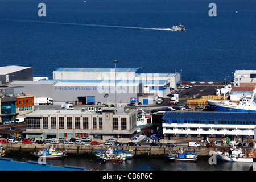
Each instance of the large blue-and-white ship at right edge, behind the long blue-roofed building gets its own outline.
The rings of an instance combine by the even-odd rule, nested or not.
[[[238,102],[225,101],[213,101],[207,100],[207,103],[213,111],[217,112],[245,112],[256,113],[256,104],[254,102],[256,89],[254,89],[252,96],[242,96]]]

